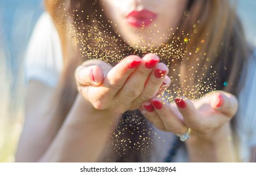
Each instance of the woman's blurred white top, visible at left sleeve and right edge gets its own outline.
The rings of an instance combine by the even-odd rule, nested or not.
[[[256,146],[256,51],[255,57],[248,64],[247,79],[238,97],[239,108],[237,113],[238,134],[240,137],[240,158],[247,162],[250,159],[250,148]],[[61,42],[58,32],[48,13],[40,18],[28,46],[26,54],[26,81],[36,79],[50,87],[55,87],[63,69]],[[161,162],[168,154],[172,133],[165,133],[156,129],[155,146],[152,162]],[[177,162],[186,162],[188,158],[183,149],[179,149]]]

